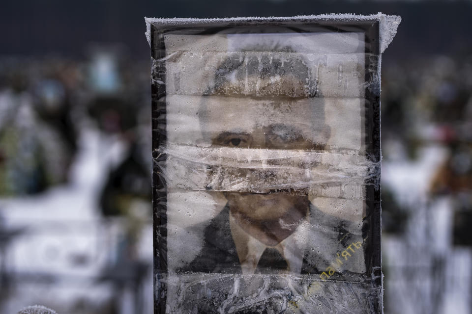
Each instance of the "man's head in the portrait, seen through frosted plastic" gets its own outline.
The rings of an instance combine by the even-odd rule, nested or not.
[[[324,104],[314,97],[311,71],[300,56],[254,52],[245,58],[229,59],[216,71],[218,84],[215,95],[205,97],[207,121],[202,131],[216,147],[260,150],[260,166],[232,169],[230,180],[254,182],[264,192],[226,191],[224,196],[236,220],[254,227],[252,232],[263,231],[269,235],[266,244],[275,245],[306,217],[309,201],[306,192],[295,192],[293,182],[270,188],[274,176],[279,181],[285,176],[277,160],[267,156],[268,150],[302,154],[324,149],[329,127],[324,125]],[[291,171],[290,166],[285,169]]]

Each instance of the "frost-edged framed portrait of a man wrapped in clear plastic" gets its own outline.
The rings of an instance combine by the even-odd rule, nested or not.
[[[147,19],[155,314],[383,311],[396,16]]]

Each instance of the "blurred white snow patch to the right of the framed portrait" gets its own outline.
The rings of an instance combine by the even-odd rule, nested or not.
[[[471,250],[452,245],[451,197],[428,195],[446,158],[446,148],[430,145],[415,161],[397,158],[382,164],[383,185],[411,215],[405,235],[383,236],[385,313],[470,313]]]

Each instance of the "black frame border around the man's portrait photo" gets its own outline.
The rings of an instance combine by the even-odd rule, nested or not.
[[[381,161],[380,143],[380,35],[379,20],[356,19],[355,17],[340,20],[332,19],[248,19],[237,21],[211,20],[191,24],[166,23],[150,24],[151,60],[165,57],[164,34],[180,33],[189,35],[203,34],[234,34],[234,33],[301,33],[301,32],[364,32],[365,38],[365,150],[366,157],[373,162]],[[159,145],[167,142],[165,125],[166,87],[155,81],[166,80],[165,68],[154,68],[151,62],[151,105],[152,105],[152,208],[153,208],[153,247],[154,247],[154,314],[165,314],[167,301],[167,187],[165,178],[157,165],[166,160],[166,156],[158,154]],[[161,128],[160,128],[161,127]],[[367,132],[372,130],[372,132]],[[379,166],[380,171],[380,166]],[[381,271],[381,188],[379,175],[365,181],[366,186],[366,217],[363,221],[363,237],[367,239],[365,256],[366,280],[372,280],[374,288],[382,289]],[[376,300],[375,308],[382,309],[383,300]]]

